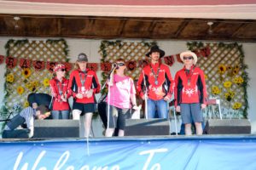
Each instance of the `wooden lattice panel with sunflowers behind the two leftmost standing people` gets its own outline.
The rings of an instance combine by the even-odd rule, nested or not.
[[[46,69],[46,62],[66,62],[67,56],[65,54],[65,44],[64,41],[58,42],[45,42],[45,41],[29,41],[26,43],[20,43],[15,45],[15,42],[9,43],[9,56],[18,59],[15,68],[7,68],[7,74],[13,74],[15,77],[14,82],[7,82],[7,91],[9,95],[6,98],[6,104],[8,107],[20,103],[20,105],[25,104],[27,95],[34,93],[46,93],[50,94],[49,87],[44,87],[44,79],[51,79],[53,74]],[[31,76],[25,78],[22,75],[22,68],[20,67],[20,59],[31,59],[44,61],[44,70],[36,71],[32,64],[29,68],[31,70]],[[28,85],[38,85],[37,88],[28,88]],[[24,88],[23,94],[18,94],[18,87]]]

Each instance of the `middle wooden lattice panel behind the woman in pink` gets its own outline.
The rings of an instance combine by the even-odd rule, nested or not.
[[[105,58],[106,62],[113,63],[116,59],[125,59],[127,61],[139,61],[146,60],[145,56],[148,53],[150,47],[143,42],[120,42],[117,45],[108,45],[106,48],[108,56]],[[137,79],[140,75],[142,68],[137,63],[137,68],[133,71],[126,71],[125,74],[133,79]]]

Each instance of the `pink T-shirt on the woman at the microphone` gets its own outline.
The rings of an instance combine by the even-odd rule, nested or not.
[[[110,87],[109,105],[120,109],[131,108],[131,94],[136,94],[134,82],[131,77],[119,77],[117,74],[113,75],[113,86]]]

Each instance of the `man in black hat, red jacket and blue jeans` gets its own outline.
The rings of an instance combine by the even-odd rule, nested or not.
[[[151,59],[137,81],[137,91],[142,99],[147,99],[148,118],[167,118],[167,102],[172,98],[174,82],[170,69],[160,62],[165,52],[158,46],[150,48],[147,57]],[[147,91],[147,92],[146,92]],[[158,113],[158,116],[156,116]]]

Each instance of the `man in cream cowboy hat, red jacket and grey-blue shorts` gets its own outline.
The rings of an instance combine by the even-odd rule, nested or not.
[[[175,75],[175,105],[176,111],[181,113],[185,134],[191,135],[191,123],[195,122],[196,134],[202,134],[201,109],[206,108],[207,86],[204,72],[196,67],[197,56],[191,51],[180,54],[183,69]]]

